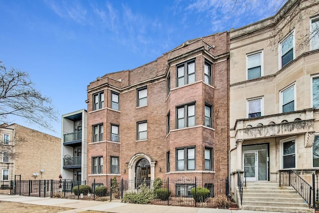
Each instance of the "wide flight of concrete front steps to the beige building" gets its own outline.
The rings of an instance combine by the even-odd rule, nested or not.
[[[249,182],[243,189],[242,210],[314,213],[292,187],[279,187],[279,183]]]

